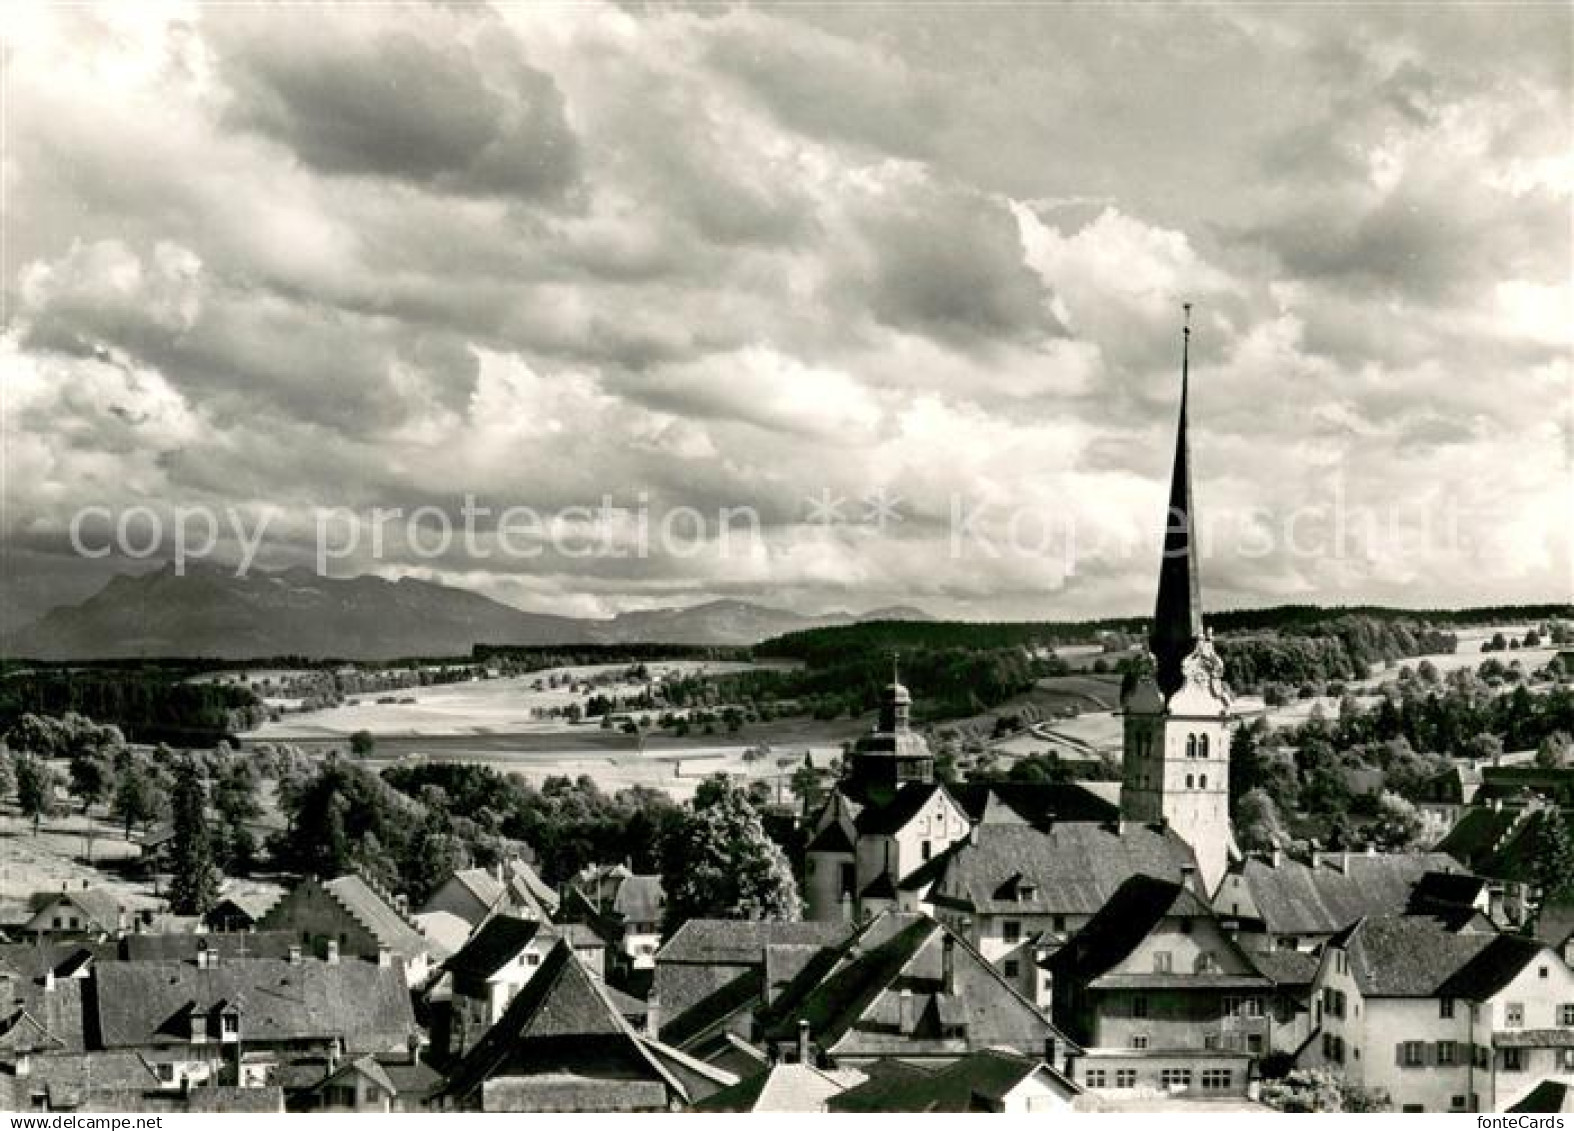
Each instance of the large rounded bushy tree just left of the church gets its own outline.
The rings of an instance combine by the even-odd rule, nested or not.
[[[663,845],[664,930],[689,919],[800,915],[787,856],[765,834],[748,793],[724,774],[700,783]]]

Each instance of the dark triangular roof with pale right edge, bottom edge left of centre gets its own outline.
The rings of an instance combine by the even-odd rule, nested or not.
[[[548,952],[497,1022],[453,1068],[444,1093],[474,1100],[504,1078],[644,1079],[686,1096],[567,942]]]

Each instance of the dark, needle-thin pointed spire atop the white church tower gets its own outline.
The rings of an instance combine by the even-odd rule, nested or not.
[[[1180,661],[1203,635],[1203,588],[1192,538],[1192,451],[1187,444],[1185,409],[1192,365],[1192,304],[1185,304],[1180,332],[1180,423],[1176,428],[1176,461],[1169,473],[1169,511],[1165,525],[1165,555],[1158,566],[1158,602],[1149,648],[1157,662],[1155,678],[1165,695],[1182,683]]]

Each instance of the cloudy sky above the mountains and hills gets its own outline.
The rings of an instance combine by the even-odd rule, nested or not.
[[[175,508],[264,524],[271,568],[351,508],[334,573],[551,612],[1141,612],[1182,300],[1209,606],[1574,590],[1568,5],[39,5],[3,36],[6,620],[165,558]],[[428,535],[466,496],[710,536],[502,552],[482,516],[373,552],[371,508]],[[82,558],[77,514],[151,554]]]

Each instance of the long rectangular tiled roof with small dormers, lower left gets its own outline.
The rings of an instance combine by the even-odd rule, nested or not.
[[[194,963],[99,963],[98,1029],[107,1048],[183,1044],[192,1015],[241,1005],[250,1041],[343,1037],[351,1051],[401,1046],[416,1027],[398,963],[299,964],[249,958],[201,969]]]

